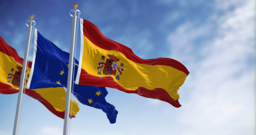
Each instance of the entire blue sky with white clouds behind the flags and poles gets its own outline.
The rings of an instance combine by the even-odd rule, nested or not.
[[[25,22],[34,14],[38,31],[69,51],[74,3],[106,37],[143,59],[176,59],[190,74],[178,91],[179,108],[107,88],[117,122],[109,124],[104,112],[79,104],[72,135],[254,135],[253,0],[2,0],[0,36],[23,57]],[[17,98],[0,94],[1,135],[12,134]],[[20,120],[20,135],[62,134],[64,120],[27,95]]]

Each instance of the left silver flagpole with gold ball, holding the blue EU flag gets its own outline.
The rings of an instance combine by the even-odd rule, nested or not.
[[[28,26],[28,36],[27,36],[27,41],[26,41],[26,48],[25,48],[25,53],[24,53],[22,72],[21,72],[21,76],[20,76],[20,90],[19,90],[18,103],[17,103],[16,115],[15,115],[15,121],[14,121],[14,127],[13,127],[13,135],[17,135],[17,132],[18,132],[18,123],[19,123],[19,117],[20,117],[20,105],[21,105],[24,82],[25,82],[25,77],[26,77],[28,50],[29,50],[29,45],[30,45],[30,41],[31,41],[31,32],[32,32],[32,27],[34,27],[36,25],[36,22],[34,20],[32,20],[34,18],[34,15],[30,15],[30,18],[31,18],[30,20],[26,21],[26,25]],[[29,25],[28,25],[28,23],[29,23]]]

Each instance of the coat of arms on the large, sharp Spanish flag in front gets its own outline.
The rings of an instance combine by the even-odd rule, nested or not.
[[[98,67],[98,74],[102,75],[101,69],[104,65],[104,68],[102,71],[103,74],[115,76],[116,71],[118,71],[118,74],[115,76],[115,78],[120,80],[120,75],[122,74],[121,71],[123,71],[124,64],[120,64],[120,67],[118,68],[117,62],[120,60],[120,58],[118,56],[116,56],[114,53],[107,54],[107,56],[109,57],[109,59],[107,59],[105,63],[104,63],[105,56],[101,56],[101,61],[99,62],[100,66]]]

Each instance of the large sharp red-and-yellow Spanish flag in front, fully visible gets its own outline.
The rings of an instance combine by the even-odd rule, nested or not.
[[[180,107],[177,91],[189,71],[169,58],[141,59],[81,19],[81,52],[76,84],[111,87]]]

